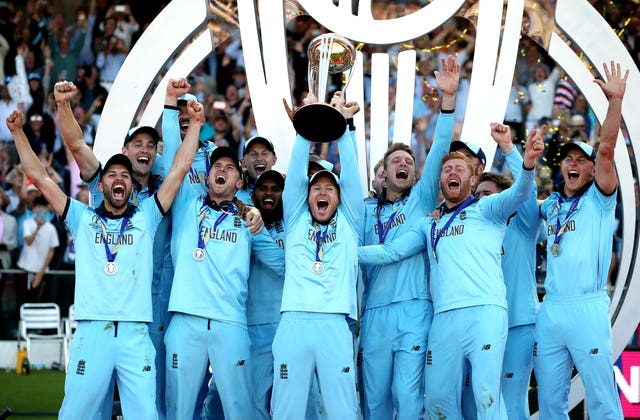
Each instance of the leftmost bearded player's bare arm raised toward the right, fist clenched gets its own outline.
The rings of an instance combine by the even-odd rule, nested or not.
[[[187,109],[189,112],[189,129],[157,194],[158,201],[165,213],[171,207],[173,199],[180,188],[180,183],[193,164],[200,141],[200,127],[204,124],[204,107],[202,104],[190,100],[187,104]]]

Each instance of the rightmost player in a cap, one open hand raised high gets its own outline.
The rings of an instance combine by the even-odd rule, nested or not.
[[[568,418],[571,371],[584,383],[589,417],[621,419],[613,376],[607,275],[615,232],[614,151],[629,71],[611,61],[595,83],[609,100],[598,151],[560,149],[562,184],[540,206],[547,221],[546,298],[536,319],[534,370],[540,418]]]

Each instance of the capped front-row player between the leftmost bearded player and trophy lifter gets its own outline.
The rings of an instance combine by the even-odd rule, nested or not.
[[[174,207],[175,275],[165,336],[167,418],[196,410],[208,362],[226,418],[252,418],[247,280],[250,257],[284,275],[283,250],[266,231],[253,235],[238,213],[235,195],[242,169],[235,150],[211,154],[208,193],[185,179]]]

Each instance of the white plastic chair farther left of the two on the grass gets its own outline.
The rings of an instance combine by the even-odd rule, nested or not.
[[[59,343],[63,361],[68,358],[66,335],[62,330],[60,308],[55,303],[24,303],[20,306],[20,336],[27,343],[27,353],[32,357],[31,343]],[[60,360],[59,360],[60,361]]]

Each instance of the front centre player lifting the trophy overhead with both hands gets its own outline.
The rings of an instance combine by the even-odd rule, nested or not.
[[[317,101],[310,94],[305,103]],[[331,105],[353,127],[359,110],[342,92]],[[353,336],[356,320],[357,246],[363,218],[362,188],[349,130],[337,140],[340,178],[329,171],[307,178],[310,142],[298,136],[285,185],[286,275],[282,319],[273,342],[274,419],[302,419],[314,370],[327,416],[355,419]]]

